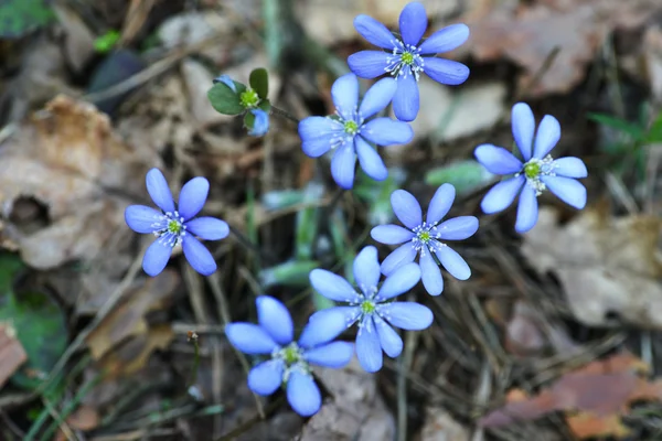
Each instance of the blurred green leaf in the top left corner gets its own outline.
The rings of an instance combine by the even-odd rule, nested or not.
[[[54,19],[45,0],[0,0],[0,39],[18,39]]]

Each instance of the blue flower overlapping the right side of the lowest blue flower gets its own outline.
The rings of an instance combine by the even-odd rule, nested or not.
[[[366,372],[374,373],[382,368],[382,351],[389,357],[397,357],[403,351],[403,341],[391,326],[425,330],[433,323],[433,311],[415,302],[389,302],[418,283],[417,265],[403,266],[380,287],[377,249],[369,246],[354,259],[353,270],[359,290],[331,271],[314,269],[310,272],[310,283],[320,294],[350,304],[316,312],[310,323],[328,320],[328,315],[339,312],[344,315],[348,327],[359,322],[356,356]]]

